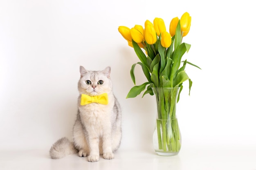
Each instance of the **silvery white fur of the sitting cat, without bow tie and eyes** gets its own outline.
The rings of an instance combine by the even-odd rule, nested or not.
[[[81,77],[78,82],[78,113],[73,127],[73,141],[66,137],[56,141],[50,149],[52,159],[79,152],[79,157],[88,156],[88,161],[99,161],[99,154],[104,159],[113,159],[113,152],[121,142],[121,108],[112,93],[110,67],[103,71],[87,71],[80,66]],[[91,84],[86,84],[89,80]],[[99,85],[99,80],[103,81]],[[91,103],[81,106],[81,94],[90,96],[108,93],[108,104]]]

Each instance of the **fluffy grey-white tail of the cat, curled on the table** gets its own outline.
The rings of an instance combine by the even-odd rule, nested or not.
[[[77,153],[78,151],[66,137],[58,139],[50,149],[50,156],[52,159],[60,159],[67,155]]]

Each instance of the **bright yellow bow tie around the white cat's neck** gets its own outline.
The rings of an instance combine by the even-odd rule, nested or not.
[[[85,94],[81,95],[81,106],[90,104],[90,103],[99,103],[99,104],[108,104],[108,94],[103,93],[99,96],[88,96]]]

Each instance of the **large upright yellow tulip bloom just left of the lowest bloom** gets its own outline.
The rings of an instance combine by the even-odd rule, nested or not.
[[[145,22],[144,38],[148,44],[155,44],[157,42],[155,28],[148,20]]]

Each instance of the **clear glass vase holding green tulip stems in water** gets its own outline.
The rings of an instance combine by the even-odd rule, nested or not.
[[[152,88],[157,102],[153,145],[157,155],[174,156],[180,152],[181,134],[176,115],[180,87]]]

